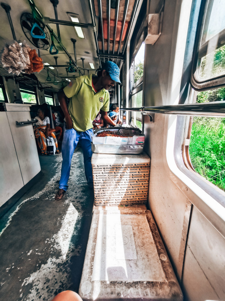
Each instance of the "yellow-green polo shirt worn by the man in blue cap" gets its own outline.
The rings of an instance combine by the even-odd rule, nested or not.
[[[110,94],[104,88],[95,93],[92,87],[92,74],[77,77],[63,91],[71,98],[68,111],[73,127],[78,132],[91,129],[92,122],[100,110],[109,111]]]

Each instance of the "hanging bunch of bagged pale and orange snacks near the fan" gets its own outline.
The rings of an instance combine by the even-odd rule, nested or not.
[[[31,49],[26,41],[19,45],[16,41],[7,44],[1,54],[2,67],[8,73],[34,73],[44,68],[41,57],[38,57],[35,49]]]

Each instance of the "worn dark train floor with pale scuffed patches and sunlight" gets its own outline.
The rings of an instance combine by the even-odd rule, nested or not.
[[[68,191],[54,199],[61,155],[39,156],[41,179],[1,218],[0,300],[50,301],[78,292],[94,194],[88,189],[81,148],[72,158]]]

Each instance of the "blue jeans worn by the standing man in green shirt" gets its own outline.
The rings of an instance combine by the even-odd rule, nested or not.
[[[64,129],[62,141],[62,167],[59,188],[65,191],[68,189],[67,182],[70,176],[71,160],[78,141],[80,141],[83,151],[85,176],[88,185],[93,184],[91,168],[91,136],[93,136],[92,129],[89,129],[85,132],[78,132],[75,129]]]

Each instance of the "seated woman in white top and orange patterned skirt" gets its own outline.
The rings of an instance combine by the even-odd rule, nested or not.
[[[52,138],[55,142],[55,147],[56,147],[55,154],[60,154],[60,152],[58,151],[57,139],[55,137],[55,134],[52,133],[52,129],[50,129],[49,117],[44,116],[44,110],[38,109],[38,116],[36,116],[35,119],[38,120],[38,122],[36,122],[35,126],[34,126],[35,138],[38,141],[38,146],[41,149],[42,156],[45,156],[47,154],[46,137],[49,137],[49,136],[52,136]]]

